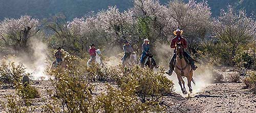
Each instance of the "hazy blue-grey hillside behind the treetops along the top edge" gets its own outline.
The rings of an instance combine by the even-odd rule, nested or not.
[[[188,0],[184,0],[188,2]],[[198,0],[198,2],[203,0]],[[161,4],[167,4],[168,0],[160,0]],[[221,9],[227,5],[235,6],[237,9],[245,9],[248,14],[255,14],[256,1],[254,0],[208,0],[212,16],[218,16]],[[91,11],[95,13],[108,9],[108,6],[117,6],[120,11],[133,7],[132,0],[0,0],[0,20],[4,18],[18,18],[20,15],[32,15],[35,18],[47,18],[57,13],[65,14],[68,19],[82,17]]]

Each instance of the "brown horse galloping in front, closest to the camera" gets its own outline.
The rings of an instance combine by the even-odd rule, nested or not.
[[[185,89],[185,82],[182,77],[187,78],[187,86],[189,88],[189,92],[192,93],[192,87],[191,87],[191,81],[193,81],[194,84],[195,81],[193,79],[193,69],[191,68],[190,64],[188,64],[184,58],[184,47],[181,43],[176,43],[176,61],[175,61],[175,73],[177,74],[179,84],[181,87],[181,91],[184,95],[187,94],[187,91]],[[183,86],[182,86],[183,84]]]

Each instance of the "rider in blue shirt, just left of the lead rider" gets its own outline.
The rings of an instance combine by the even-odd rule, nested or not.
[[[144,67],[144,60],[146,58],[146,56],[148,55],[148,53],[150,52],[150,44],[148,43],[150,42],[150,40],[148,40],[147,38],[144,39],[144,43],[142,44],[142,53],[141,53],[141,57],[140,57],[140,64],[141,67]],[[158,68],[159,66],[156,64],[155,60],[152,59],[152,63],[153,65]]]

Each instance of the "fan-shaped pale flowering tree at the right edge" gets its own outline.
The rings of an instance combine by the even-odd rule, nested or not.
[[[227,11],[212,22],[215,37],[231,47],[232,55],[236,55],[237,47],[247,44],[256,38],[256,21],[247,17],[245,11],[238,14],[229,6]],[[233,57],[232,56],[232,57]]]

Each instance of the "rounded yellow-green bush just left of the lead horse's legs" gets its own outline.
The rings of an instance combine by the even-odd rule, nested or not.
[[[172,92],[174,83],[164,76],[164,69],[154,72],[148,68],[136,66],[125,72],[117,81],[121,89],[135,89],[131,94],[136,94],[142,102],[161,102],[161,98]]]

